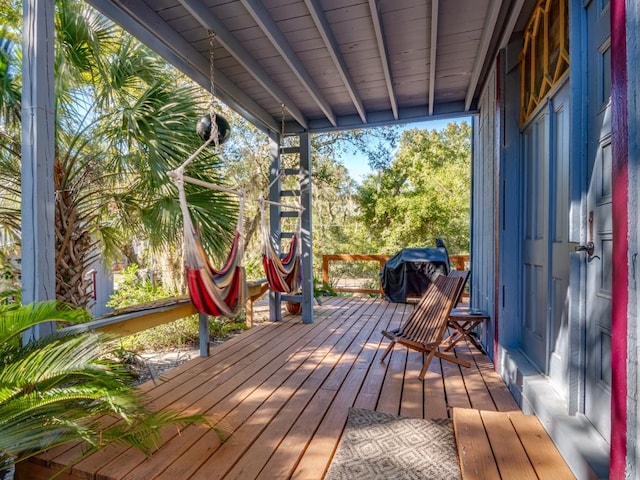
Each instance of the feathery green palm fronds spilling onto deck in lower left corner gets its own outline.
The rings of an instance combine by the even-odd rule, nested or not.
[[[0,307],[0,469],[77,440],[86,454],[114,442],[149,454],[164,426],[203,420],[148,410],[126,369],[106,359],[103,335],[21,344],[22,334],[43,322],[86,319],[86,312],[55,302]],[[120,421],[100,422],[107,414]]]

